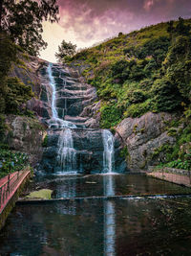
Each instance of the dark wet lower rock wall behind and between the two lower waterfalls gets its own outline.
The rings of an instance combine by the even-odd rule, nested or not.
[[[103,172],[103,139],[101,129],[72,129],[74,150],[76,151],[76,170],[78,173],[92,174]],[[50,130],[48,147],[43,153],[41,169],[49,173],[62,172],[58,160],[58,140],[61,130]],[[115,138],[115,166],[117,173],[126,170],[126,163],[120,157],[121,146]]]

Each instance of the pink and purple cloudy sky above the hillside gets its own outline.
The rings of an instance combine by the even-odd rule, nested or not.
[[[54,53],[64,39],[77,48],[92,46],[119,32],[129,33],[161,21],[191,18],[191,0],[57,0],[60,21],[44,23],[49,46],[41,58],[55,62]]]

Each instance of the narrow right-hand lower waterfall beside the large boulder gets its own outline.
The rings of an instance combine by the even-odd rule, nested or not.
[[[103,138],[103,172],[112,173],[114,171],[114,136],[112,132],[108,129],[102,130]]]

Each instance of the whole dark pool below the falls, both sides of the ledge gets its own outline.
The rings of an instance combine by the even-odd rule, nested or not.
[[[0,255],[191,255],[190,196],[86,199],[189,189],[144,175],[64,176],[47,183],[55,198],[84,199],[17,205],[0,233]]]

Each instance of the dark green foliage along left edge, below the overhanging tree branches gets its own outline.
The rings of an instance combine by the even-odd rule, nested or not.
[[[5,115],[32,116],[32,111],[26,108],[28,100],[32,99],[31,85],[24,84],[16,77],[10,77],[12,65],[19,65],[22,51],[9,37],[0,33],[0,139],[4,136]]]

